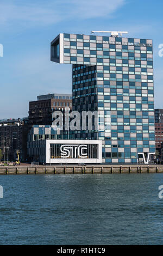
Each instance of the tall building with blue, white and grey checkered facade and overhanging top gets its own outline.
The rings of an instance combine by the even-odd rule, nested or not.
[[[155,153],[152,40],[61,33],[51,60],[72,64],[73,110],[100,111],[101,125],[110,117],[110,130],[75,131],[75,138],[102,140],[103,162],[148,163]]]

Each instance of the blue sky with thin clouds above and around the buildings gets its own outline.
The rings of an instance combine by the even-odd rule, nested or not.
[[[1,0],[0,119],[26,117],[37,95],[71,93],[72,66],[50,61],[50,42],[92,30],[153,39],[155,108],[163,108],[162,8],[162,0]]]

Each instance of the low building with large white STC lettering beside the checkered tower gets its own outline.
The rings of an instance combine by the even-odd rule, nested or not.
[[[68,139],[54,126],[34,125],[28,135],[27,148],[32,162],[102,163],[102,141]]]

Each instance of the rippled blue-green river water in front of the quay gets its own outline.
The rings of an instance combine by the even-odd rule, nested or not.
[[[0,176],[1,245],[161,245],[163,174]]]

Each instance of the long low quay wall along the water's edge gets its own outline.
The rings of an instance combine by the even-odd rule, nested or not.
[[[163,173],[163,166],[47,166],[0,167],[0,175],[8,174],[127,174]]]

